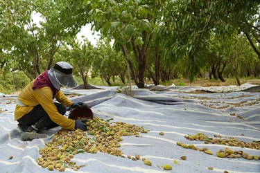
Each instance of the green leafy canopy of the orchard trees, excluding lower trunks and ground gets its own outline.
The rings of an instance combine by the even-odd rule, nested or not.
[[[0,46],[13,59],[8,67],[12,64],[12,69],[23,70],[31,74],[30,78],[49,69],[54,60],[62,59],[62,55],[57,55],[60,46],[70,36],[75,36],[81,26],[89,23],[93,30],[100,31],[103,38],[114,39],[114,48],[105,43],[100,44],[96,51],[87,43],[80,46],[74,43],[73,51],[60,52],[64,53],[64,57],[70,57],[74,64],[92,64],[94,62],[90,59],[97,59],[96,68],[102,66],[104,70],[96,71],[102,73],[106,80],[109,80],[111,73],[119,73],[117,71],[120,69],[108,68],[106,64],[114,65],[116,61],[125,63],[124,59],[118,57],[122,46],[128,52],[132,71],[137,71],[138,75],[148,70],[143,64],[149,65],[152,74],[157,64],[173,67],[173,62],[183,59],[187,63],[187,66],[182,63],[187,67],[184,76],[189,75],[190,79],[204,68],[205,65],[200,61],[203,62],[208,53],[231,56],[232,51],[223,46],[226,44],[212,44],[212,37],[247,33],[247,39],[254,46],[253,50],[255,53],[259,52],[257,28],[260,21],[257,17],[257,1],[12,0],[0,1],[0,11]],[[39,12],[44,17],[41,27],[31,24],[32,11]],[[234,50],[239,51],[236,49],[239,46],[234,42],[232,45]],[[240,51],[235,53],[234,50],[232,57],[244,56]],[[248,52],[250,55],[254,53],[252,50]],[[7,56],[3,54],[1,53],[1,57],[5,57],[5,60],[0,63],[6,63]],[[155,55],[168,62],[153,62]],[[245,58],[241,59],[247,64],[250,62]],[[28,66],[26,63],[32,65]],[[116,64],[121,66],[121,71],[125,68],[123,63]],[[83,69],[87,71],[89,66],[85,67]],[[160,68],[157,67],[158,69]],[[80,73],[80,69],[77,72]],[[144,75],[138,75],[135,79],[144,78]],[[81,73],[80,76],[85,78],[86,75]]]

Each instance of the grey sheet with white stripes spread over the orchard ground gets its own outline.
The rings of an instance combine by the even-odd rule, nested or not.
[[[154,91],[133,89],[134,95],[130,97],[118,93],[115,87],[94,91],[64,89],[65,93],[76,93],[71,100],[83,101],[92,107],[94,116],[113,118],[114,121],[150,130],[147,134],[141,134],[141,137],[124,136],[120,149],[125,155],[139,154],[153,165],[102,152],[80,153],[71,161],[86,166],[77,172],[260,172],[260,161],[216,156],[216,152],[225,147],[257,156],[260,156],[259,149],[205,144],[184,138],[187,134],[201,132],[211,137],[220,135],[247,143],[259,141],[260,93],[243,92],[242,89],[232,92],[232,87],[227,92],[223,92],[223,87],[215,88],[218,93],[193,92],[198,88],[207,90],[193,86],[171,86],[171,89],[161,86]],[[60,127],[44,131],[48,138],[22,141],[17,122],[13,120],[16,98],[17,95],[0,98],[0,172],[49,172],[37,165],[36,160],[40,157],[39,149],[51,141]],[[163,136],[159,135],[161,131],[164,132]],[[213,155],[184,149],[176,145],[177,141],[198,148],[207,147]],[[182,156],[187,159],[182,160]],[[173,169],[164,170],[164,164],[171,165]],[[213,170],[208,167],[213,167]],[[66,172],[76,171],[66,169]]]

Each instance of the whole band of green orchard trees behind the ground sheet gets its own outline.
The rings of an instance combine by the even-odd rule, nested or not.
[[[259,78],[259,1],[0,1],[0,91],[14,92],[55,62],[78,84],[168,84]],[[33,23],[32,15],[42,17]],[[91,24],[98,44],[78,42]],[[110,42],[113,40],[114,45]],[[92,76],[89,74],[92,73]],[[182,82],[180,82],[182,84]]]

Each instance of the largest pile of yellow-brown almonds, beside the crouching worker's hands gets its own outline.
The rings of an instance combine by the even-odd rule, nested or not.
[[[110,119],[111,120],[111,119]],[[121,136],[139,136],[139,132],[147,133],[143,127],[130,125],[125,122],[111,122],[95,117],[87,120],[87,131],[80,129],[57,131],[46,146],[40,149],[40,158],[37,163],[48,170],[58,170],[63,172],[67,167],[78,170],[85,165],[76,165],[71,161],[73,155],[80,152],[96,154],[104,152],[114,156],[122,156],[123,152],[120,142]],[[91,136],[92,138],[90,138]],[[94,136],[94,137],[93,137]],[[139,156],[135,156],[139,159]]]

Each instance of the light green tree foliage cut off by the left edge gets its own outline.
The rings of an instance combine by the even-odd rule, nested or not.
[[[0,1],[0,66],[8,71],[15,70],[16,62],[12,60],[10,51],[15,46],[13,40],[19,30],[15,26],[23,25],[30,19],[31,7],[34,1],[2,0]]]

